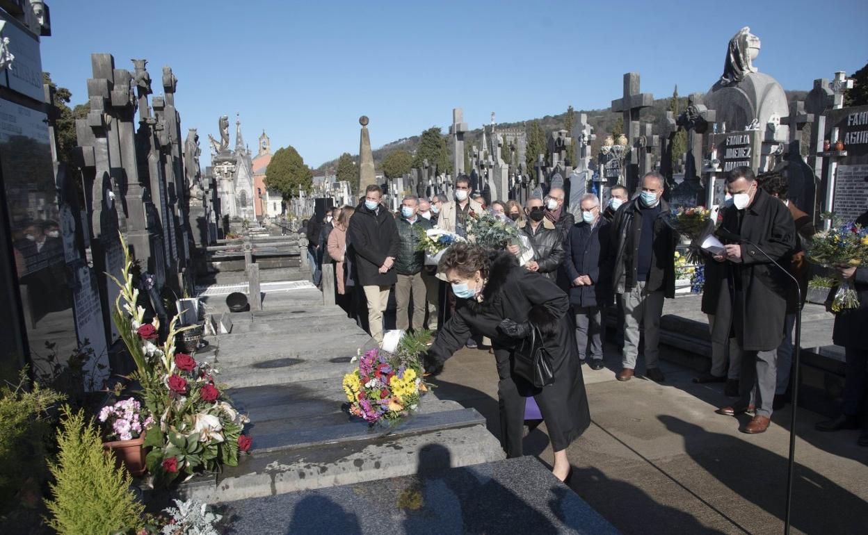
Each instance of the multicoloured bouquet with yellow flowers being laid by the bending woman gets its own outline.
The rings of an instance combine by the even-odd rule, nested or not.
[[[404,335],[395,353],[370,349],[353,359],[358,369],[344,375],[342,386],[349,412],[372,425],[397,425],[431,387],[424,381],[421,355],[431,337],[428,331]]]

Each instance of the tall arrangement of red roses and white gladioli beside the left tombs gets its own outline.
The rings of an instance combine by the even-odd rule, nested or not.
[[[215,381],[216,369],[191,355],[175,353],[175,336],[195,326],[179,328],[179,316],[175,315],[168,325],[166,342],[159,343],[159,321],[144,320],[145,310],[137,304],[139,290],[133,283],[132,262],[123,237],[121,244],[126,262],[123,280],[114,279],[121,292],[112,318],[135,361],[132,378],[141,384],[138,395],[146,416],[142,421],[143,446],[151,448],[146,458],[148,473],[155,482],[168,485],[181,473],[192,475],[216,471],[220,465],[237,465],[239,453],[247,452],[253,442],[242,434],[247,416],[233,408],[225,394],[226,385]]]

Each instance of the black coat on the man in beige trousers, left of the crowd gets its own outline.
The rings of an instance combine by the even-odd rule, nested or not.
[[[379,206],[379,215],[368,210],[365,203],[356,207],[347,229],[347,251],[353,255],[353,269],[361,286],[391,286],[398,282],[395,268],[380,273],[385,258],[398,258],[401,240],[395,218],[384,206]]]

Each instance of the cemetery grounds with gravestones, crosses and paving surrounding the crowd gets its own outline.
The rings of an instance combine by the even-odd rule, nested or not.
[[[201,505],[196,514],[216,530],[202,533],[776,533],[792,410],[799,446],[787,529],[864,529],[865,448],[813,431],[838,414],[845,389],[845,349],[832,343],[824,306],[830,288],[812,286],[801,312],[798,408],[752,443],[706,421],[722,387],[690,381],[712,362],[704,268],[676,262],[676,297],[661,317],[669,381],[616,392],[621,357],[610,337],[607,369],[583,372],[593,423],[570,447],[572,480],[563,482],[534,428],[525,456],[504,453],[487,347],[461,349],[437,377],[419,369],[424,395],[395,425],[353,413],[342,382],[358,359],[398,355],[413,339],[405,333],[385,349],[348,316],[334,264],[309,253],[317,244],[306,233],[332,208],[361,209],[366,186],[382,188],[391,212],[407,196],[455,199],[459,178],[484,206],[525,206],[560,189],[581,221],[583,196],[597,196],[602,210],[613,186],[634,198],[652,172],[665,179],[670,206],[724,206],[727,173],[739,166],[783,173],[789,202],[829,229],[827,212],[853,221],[868,210],[868,102],[849,100],[853,73],[805,73],[818,76],[806,78],[810,91],[785,91],[764,72],[761,36],[733,28],[715,45],[727,51],[719,77],[681,101],[676,91],[676,111],[661,112],[643,92],[651,72],[595,80],[611,95],[606,117],[617,130],[602,127],[602,112],[572,107],[568,124],[538,132],[538,123],[499,125],[494,112],[474,129],[469,108],[443,109],[444,158],[385,176],[371,140],[378,117],[361,109],[345,117],[353,133],[358,117],[352,176],[337,163],[302,163],[308,181],[287,193],[273,179],[286,149],[271,153],[264,131],[258,154],[244,140],[241,117],[246,127],[255,121],[247,103],[238,103],[234,130],[228,109],[191,124],[181,102],[204,89],[148,47],[132,60],[109,40],[93,50],[87,95],[76,95],[87,106],[62,114],[60,89],[43,76],[41,47],[60,31],[50,7],[0,0],[0,417],[20,413],[15,425],[0,422],[0,460],[27,457],[0,467],[0,531],[105,532],[81,527],[102,522],[110,532],[156,533],[160,519],[183,516],[168,507]],[[688,243],[677,251],[686,255]],[[447,303],[448,285],[439,288]],[[386,329],[396,329],[394,308]],[[448,309],[441,305],[441,322]],[[604,316],[614,330],[615,307]],[[138,408],[117,405],[125,400]],[[115,422],[122,446],[105,436],[109,408],[119,411],[109,418],[133,422]],[[88,440],[110,453],[88,457]],[[76,444],[90,464],[58,453]],[[767,467],[772,475],[758,475]],[[76,497],[71,480],[99,488]],[[118,496],[127,501],[119,506]]]

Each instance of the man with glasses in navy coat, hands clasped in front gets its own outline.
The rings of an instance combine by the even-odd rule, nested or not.
[[[584,195],[579,206],[582,221],[573,225],[565,243],[564,266],[572,283],[569,302],[575,314],[579,358],[586,360],[590,348],[591,369],[602,369],[601,309],[612,301],[612,237],[595,194]]]

